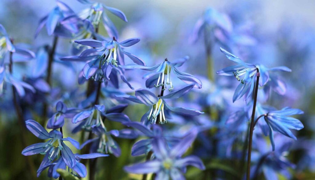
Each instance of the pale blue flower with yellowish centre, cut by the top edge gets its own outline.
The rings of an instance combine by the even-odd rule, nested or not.
[[[85,0],[83,0],[83,1],[79,0],[79,2],[84,3],[84,4],[91,4],[90,1],[85,1]],[[118,38],[117,29],[116,29],[114,23],[112,22],[112,20],[110,20],[108,18],[108,16],[106,15],[105,10],[108,10],[113,15],[116,15],[117,17],[119,17],[123,21],[128,22],[126,15],[123,14],[122,11],[120,11],[119,9],[116,9],[116,8],[105,6],[102,3],[92,4],[90,8],[84,9],[78,16],[82,20],[89,20],[93,24],[93,26],[95,26],[95,27],[98,27],[100,20],[102,19],[103,25],[104,25],[108,35],[111,38],[112,37]]]

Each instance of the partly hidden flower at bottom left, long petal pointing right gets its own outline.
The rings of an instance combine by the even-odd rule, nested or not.
[[[84,164],[80,163],[81,159],[93,159],[98,157],[106,157],[109,156],[108,154],[102,154],[102,153],[90,153],[90,154],[74,154],[77,164],[73,166],[72,170],[75,171],[77,174],[74,174],[71,172],[72,175],[77,177],[86,177],[87,171]],[[53,177],[57,179],[60,177],[60,174],[57,172],[57,169],[67,169],[65,161],[60,157],[58,160],[56,160],[53,165],[49,166],[48,169],[48,177]]]

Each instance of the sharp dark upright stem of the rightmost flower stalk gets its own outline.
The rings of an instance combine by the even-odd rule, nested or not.
[[[252,143],[253,143],[253,131],[254,131],[254,119],[255,119],[255,110],[256,110],[256,103],[257,103],[257,92],[258,92],[258,85],[259,85],[259,69],[257,68],[257,79],[255,84],[255,93],[254,93],[254,104],[253,104],[253,112],[252,112],[252,118],[250,121],[250,127],[249,127],[249,142],[248,142],[248,152],[247,152],[247,174],[246,179],[250,179],[250,161],[251,161],[251,153],[252,153]]]

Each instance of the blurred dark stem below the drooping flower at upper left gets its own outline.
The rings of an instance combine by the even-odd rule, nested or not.
[[[57,42],[58,42],[58,36],[54,36],[53,46],[49,50],[49,54],[48,54],[48,67],[47,67],[46,82],[49,84],[49,86],[52,85],[51,74],[52,74],[52,70],[53,70],[53,61],[54,61],[54,55],[56,52]],[[43,117],[47,116],[47,111],[48,111],[48,104],[47,104],[47,102],[45,102],[43,105]],[[44,122],[42,122],[41,124],[43,125]]]

